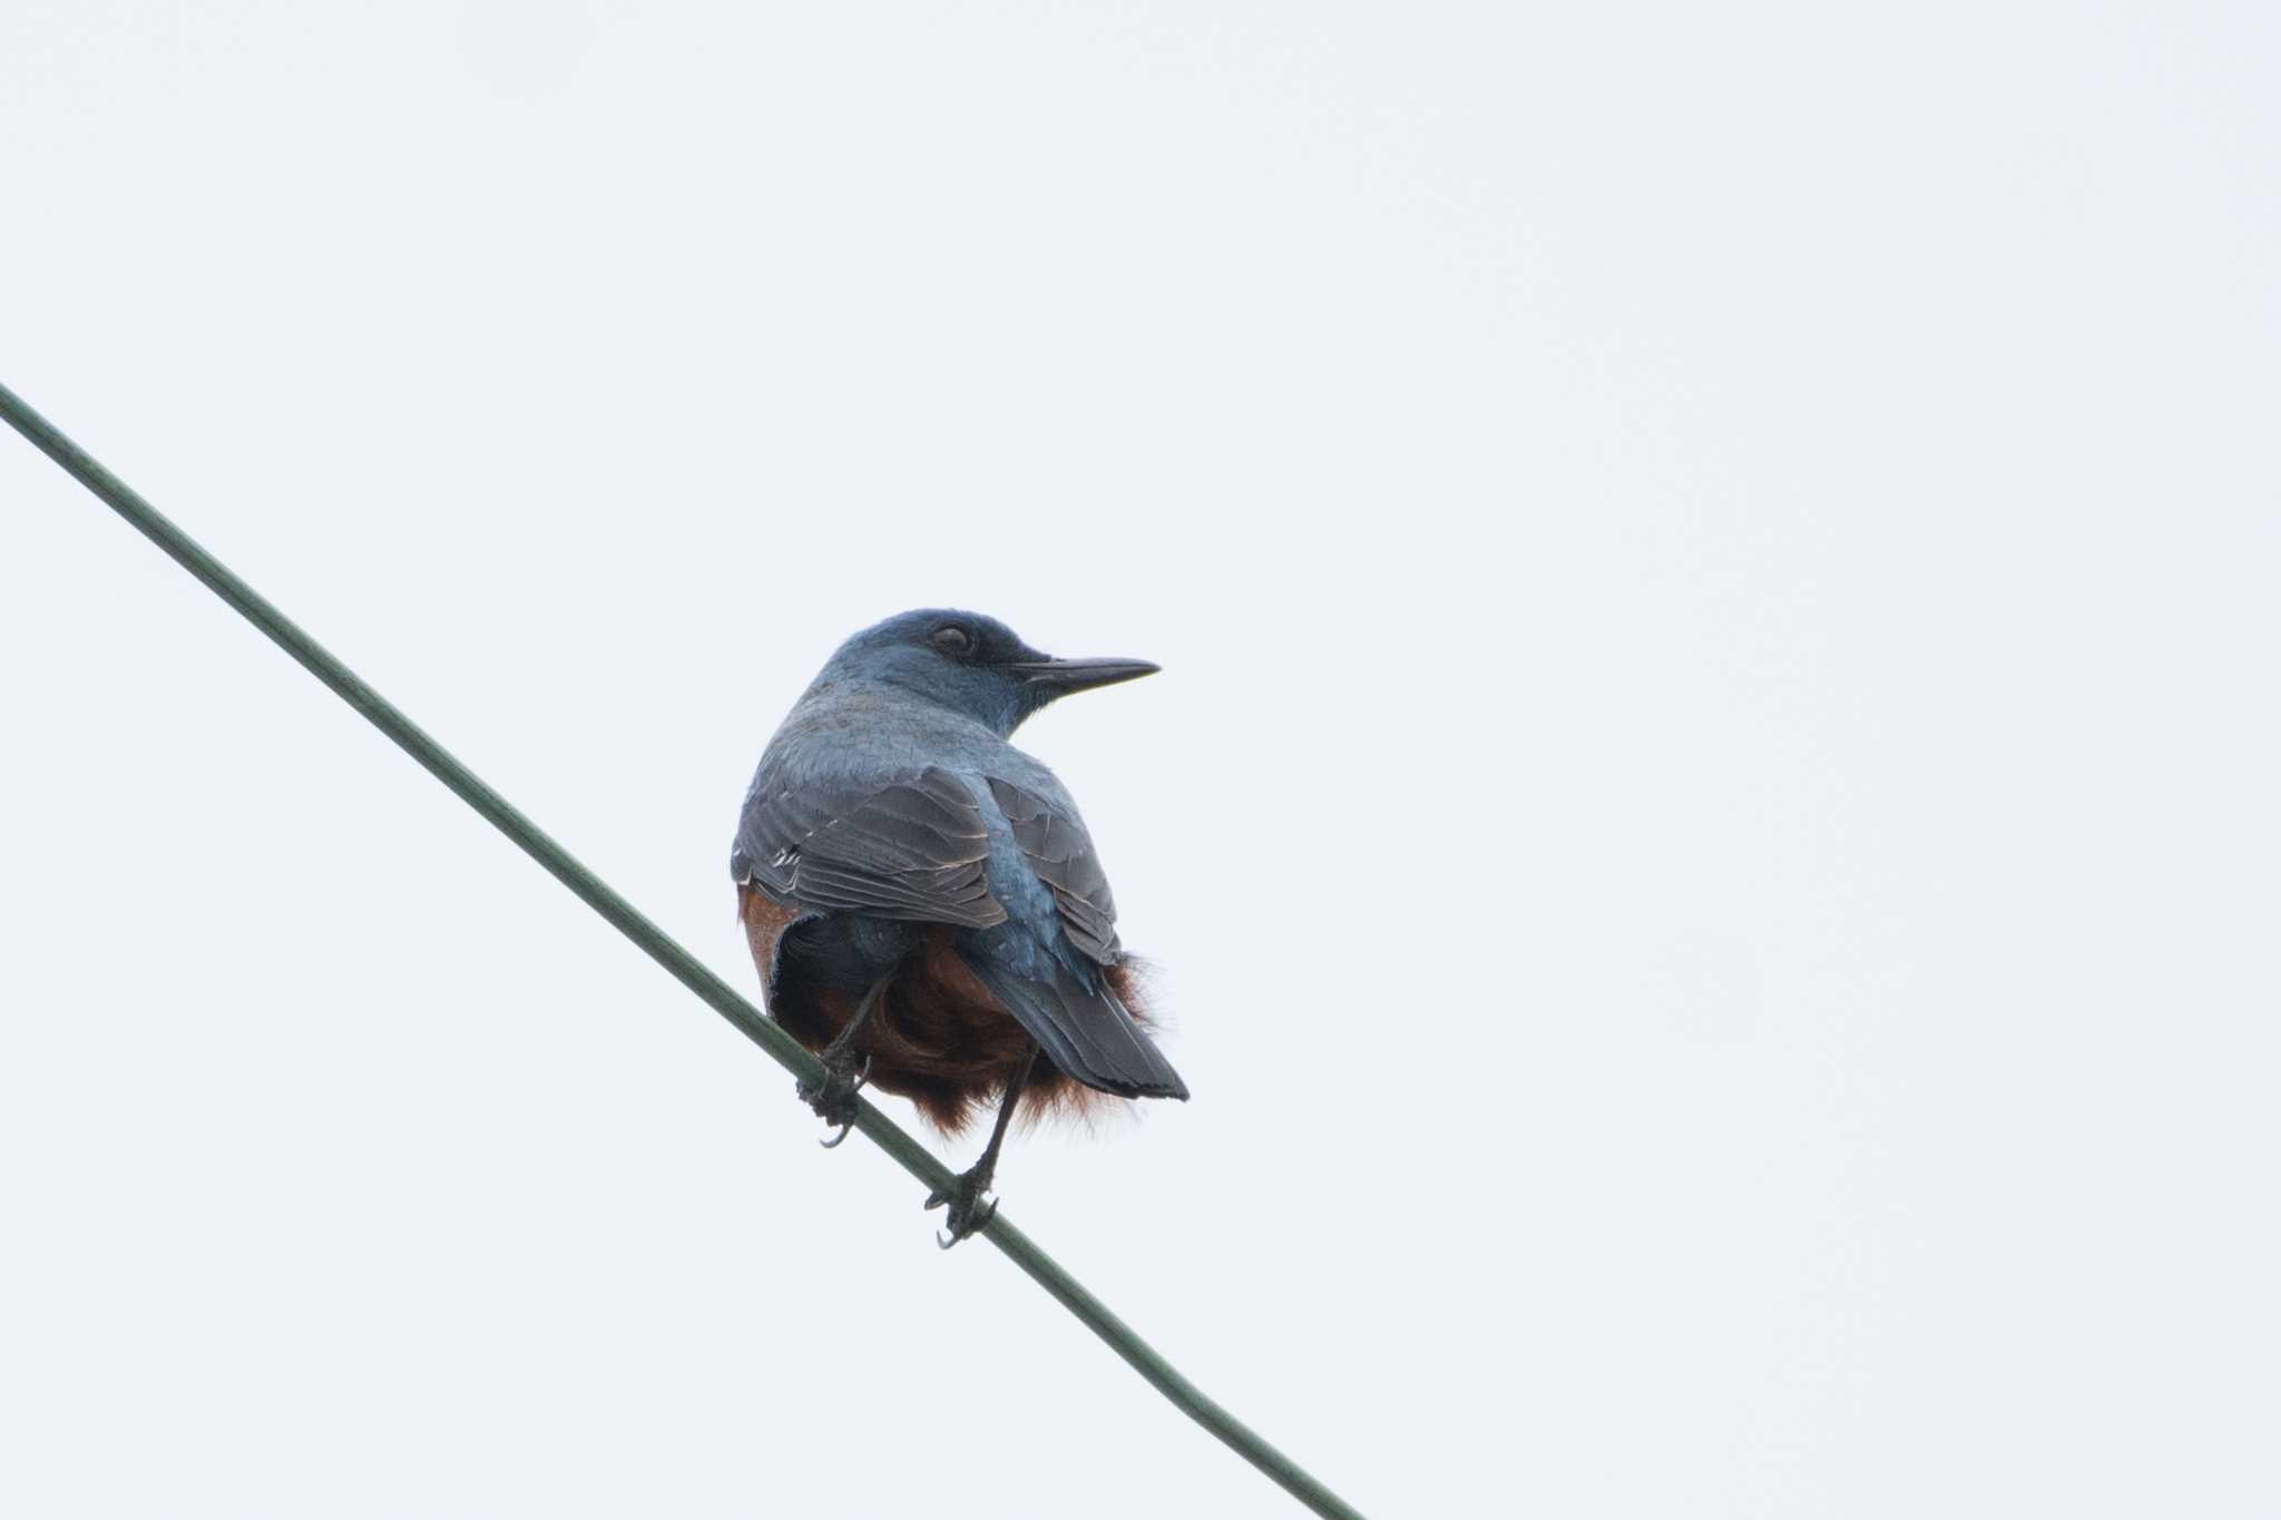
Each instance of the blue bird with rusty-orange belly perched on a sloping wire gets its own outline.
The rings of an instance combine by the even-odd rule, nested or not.
[[[823,1144],[867,1085],[944,1135],[997,1105],[981,1158],[926,1199],[944,1249],[997,1215],[1017,1108],[1188,1098],[1077,802],[1008,743],[1049,702],[1156,670],[1054,659],[981,613],[899,613],[823,663],[744,795],[737,916],[769,1016],[823,1064],[798,1085],[837,1126]]]

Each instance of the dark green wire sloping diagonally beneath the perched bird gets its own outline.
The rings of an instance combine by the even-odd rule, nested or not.
[[[746,1003],[728,982],[707,971],[671,934],[650,923],[641,909],[620,898],[609,882],[582,866],[536,823],[525,818],[506,798],[484,784],[472,770],[458,763],[449,750],[436,743],[417,722],[397,711],[381,693],[372,690],[354,670],[342,665],[324,645],[301,631],[285,613],[269,604],[258,590],[246,586],[228,565],[201,549],[182,529],[173,526],[155,506],[144,501],[125,481],[98,465],[84,449],[64,438],[46,417],[34,412],[16,392],[0,385],[0,415],[9,426],[32,440],[41,453],[52,458],[64,472],[87,490],[96,492],[105,506],[125,517],[144,538],[167,551],[189,574],[198,577],[208,590],[237,608],[269,640],[294,656],[303,670],[333,688],[342,702],[354,706],[365,720],[385,734],[399,750],[411,754],[438,782],[481,814],[495,830],[506,834],[525,855],[568,886],[577,898],[602,914],[620,934],[664,966],[673,980],[703,998],[716,1014],[734,1023],[746,1039],[766,1051],[776,1062],[803,1080],[819,1080],[821,1064],[801,1048],[792,1035],[778,1028],[766,1014]],[[887,1114],[869,1101],[858,1098],[855,1128],[880,1151],[892,1155],[910,1176],[933,1187],[947,1187],[951,1171],[933,1158],[926,1146],[906,1135]],[[1332,1520],[1362,1520],[1362,1515],[1296,1461],[1261,1440],[1248,1424],[1211,1401],[1195,1383],[1154,1351],[1129,1324],[1109,1313],[1083,1283],[1061,1269],[1038,1244],[1017,1231],[1001,1212],[979,1231],[990,1244],[1004,1251],[1013,1265],[1026,1272],[1040,1288],[1077,1315],[1086,1329],[1109,1342],[1134,1372],[1145,1376],[1156,1392],[1172,1401],[1184,1415],[1227,1443],[1236,1456],[1252,1463],[1282,1484],[1300,1504]]]

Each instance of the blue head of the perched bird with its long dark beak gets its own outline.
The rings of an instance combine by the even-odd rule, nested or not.
[[[1001,738],[1072,690],[1156,675],[1136,659],[1054,659],[997,618],[928,606],[855,634],[819,681],[867,681],[965,713]]]

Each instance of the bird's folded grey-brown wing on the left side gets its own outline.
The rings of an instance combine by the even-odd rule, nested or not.
[[[778,902],[988,930],[1006,923],[983,880],[988,850],[974,793],[928,766],[894,777],[755,784],[730,868]]]

